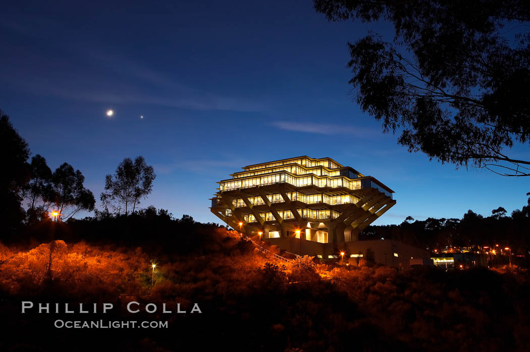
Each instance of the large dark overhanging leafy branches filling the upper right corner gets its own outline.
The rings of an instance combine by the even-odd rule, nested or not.
[[[410,152],[441,163],[530,176],[530,160],[505,154],[530,141],[527,1],[315,0],[314,6],[330,21],[393,24],[394,43],[375,33],[348,43],[357,103],[383,121],[384,132],[401,132],[398,141]]]

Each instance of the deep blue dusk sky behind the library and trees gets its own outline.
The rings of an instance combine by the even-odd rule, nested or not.
[[[409,154],[352,102],[346,43],[392,35],[386,25],[329,23],[311,1],[46,3],[3,4],[0,109],[52,169],[80,169],[98,204],[105,174],[138,155],[157,174],[142,206],[204,222],[218,222],[216,181],[299,155],[394,189],[398,203],[375,224],[526,203],[528,178]]]

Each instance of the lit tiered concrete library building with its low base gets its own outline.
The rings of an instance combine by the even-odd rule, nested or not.
[[[396,204],[394,191],[331,158],[276,160],[230,176],[218,182],[211,212],[288,252],[332,259],[337,249],[359,257],[370,248],[378,263],[402,267],[411,258],[429,257],[392,240],[358,241],[360,231]]]

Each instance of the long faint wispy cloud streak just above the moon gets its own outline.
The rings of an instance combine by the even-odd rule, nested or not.
[[[118,63],[116,63],[118,66]],[[54,68],[48,72],[57,71]],[[192,110],[260,111],[261,104],[238,97],[218,95],[186,87],[177,82],[163,81],[162,74],[136,68],[122,77],[136,77],[135,84],[130,78],[105,77],[104,71],[85,73],[83,71],[63,71],[53,77],[46,74],[19,70],[8,73],[0,69],[4,77],[9,76],[16,88],[43,96],[54,96],[66,100],[78,100],[109,104],[150,104],[182,107]],[[4,75],[5,74],[5,75]],[[116,72],[113,73],[114,75]],[[74,83],[73,83],[74,82]]]

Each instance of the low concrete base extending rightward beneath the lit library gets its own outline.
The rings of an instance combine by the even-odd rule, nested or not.
[[[345,263],[356,263],[357,259],[366,260],[369,251],[373,252],[375,263],[398,268],[409,268],[410,259],[429,259],[430,257],[428,250],[395,240],[320,243],[300,240],[296,237],[279,237],[267,238],[266,241],[290,253],[315,256],[326,260],[340,260],[340,252],[344,251]]]

